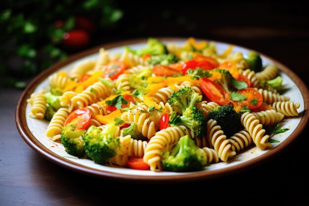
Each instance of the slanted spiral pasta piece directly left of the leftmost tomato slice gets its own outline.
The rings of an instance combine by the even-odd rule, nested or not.
[[[52,140],[60,139],[61,137],[61,128],[64,125],[64,122],[68,118],[70,112],[68,108],[60,108],[51,119],[48,124],[45,135],[52,138]]]

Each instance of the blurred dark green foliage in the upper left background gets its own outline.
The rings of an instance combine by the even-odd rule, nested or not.
[[[0,86],[25,87],[20,82],[67,57],[61,45],[74,29],[75,17],[85,16],[100,29],[113,28],[121,10],[113,0],[5,0],[0,8]],[[61,22],[59,27],[56,23]]]

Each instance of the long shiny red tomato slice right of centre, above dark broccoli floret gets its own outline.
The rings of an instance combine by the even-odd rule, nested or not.
[[[213,102],[219,105],[226,105],[231,102],[228,92],[218,83],[202,78],[200,80],[204,94]]]

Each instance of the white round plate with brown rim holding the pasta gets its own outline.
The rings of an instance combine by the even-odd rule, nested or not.
[[[186,41],[186,39],[177,38],[162,38],[160,40],[165,43],[175,43],[180,45],[183,45]],[[73,55],[65,61],[58,62],[37,76],[21,95],[15,114],[16,125],[19,133],[27,144],[51,162],[77,172],[94,176],[126,181],[188,181],[232,174],[233,172],[239,172],[250,167],[252,168],[252,166],[270,160],[271,157],[280,154],[283,149],[286,149],[293,141],[295,141],[307,126],[309,119],[309,92],[307,87],[290,69],[264,54],[261,54],[264,64],[272,63],[277,65],[280,69],[280,75],[283,78],[283,82],[289,88],[285,95],[289,96],[292,101],[301,104],[301,107],[298,109],[298,112],[300,113],[299,116],[286,119],[281,123],[283,127],[289,127],[290,130],[274,136],[273,138],[280,142],[272,143],[273,147],[270,150],[261,151],[256,147],[249,147],[230,159],[227,163],[221,162],[212,164],[202,171],[187,173],[165,171],[153,172],[150,170],[133,170],[130,168],[98,165],[91,160],[78,159],[67,154],[64,151],[62,144],[53,142],[51,139],[45,137],[48,122],[28,117],[27,114],[30,111],[30,106],[27,104],[27,99],[34,91],[36,92],[42,88],[48,88],[48,77],[51,74],[59,71],[69,71],[75,64],[81,61],[96,59],[100,47],[109,49],[111,53],[118,53],[122,51],[124,45],[129,45],[132,48],[140,48],[145,46],[146,42],[146,39],[142,39],[101,45]],[[216,42],[216,46],[220,53],[228,48],[229,44]],[[233,51],[240,51],[243,54],[246,54],[250,49],[234,45]]]

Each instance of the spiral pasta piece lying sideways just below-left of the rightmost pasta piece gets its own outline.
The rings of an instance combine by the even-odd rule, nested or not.
[[[272,125],[280,122],[284,115],[280,112],[276,112],[274,110],[266,110],[261,112],[252,112],[255,117],[260,121],[263,125]]]

